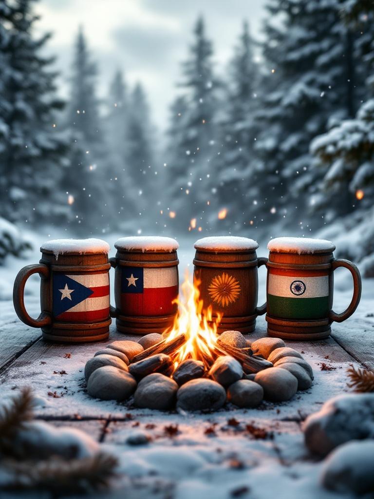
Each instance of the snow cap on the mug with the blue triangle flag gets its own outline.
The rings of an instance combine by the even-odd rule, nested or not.
[[[108,254],[110,246],[102,239],[51,239],[45,241],[40,251],[51,251],[56,260],[60,254]]]

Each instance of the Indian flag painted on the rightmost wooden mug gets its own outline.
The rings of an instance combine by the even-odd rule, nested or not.
[[[269,268],[267,311],[285,319],[319,319],[329,312],[329,273]]]

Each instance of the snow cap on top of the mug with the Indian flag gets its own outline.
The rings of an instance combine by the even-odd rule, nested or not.
[[[326,253],[335,250],[335,245],[327,239],[314,238],[275,238],[267,245],[269,251],[276,253]]]

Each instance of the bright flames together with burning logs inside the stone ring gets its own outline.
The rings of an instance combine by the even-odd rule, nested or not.
[[[173,327],[164,332],[163,341],[136,355],[132,362],[165,353],[172,357],[174,370],[187,359],[202,361],[208,370],[218,357],[230,355],[241,363],[247,374],[270,367],[271,363],[253,355],[249,347],[236,348],[218,341],[217,328],[222,316],[213,316],[211,306],[204,308],[198,286],[199,282],[195,280],[192,283],[187,273],[182,284],[181,299],[176,300],[179,313]]]

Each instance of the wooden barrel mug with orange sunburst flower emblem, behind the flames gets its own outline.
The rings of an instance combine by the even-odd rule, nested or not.
[[[200,291],[204,309],[222,315],[218,333],[254,330],[256,317],[266,312],[266,303],[257,307],[257,268],[267,258],[257,258],[253,239],[220,236],[199,239],[193,260],[194,283]]]

